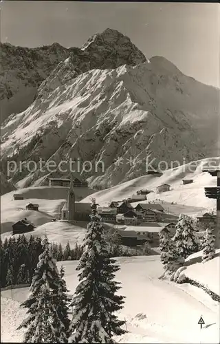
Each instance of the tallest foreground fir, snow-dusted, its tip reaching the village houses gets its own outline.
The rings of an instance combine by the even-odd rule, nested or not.
[[[97,215],[97,204],[92,200],[91,222],[87,226],[84,252],[78,268],[80,283],[72,301],[73,319],[70,343],[114,343],[113,336],[124,334],[114,314],[122,308],[124,297],[115,294],[120,289],[115,272],[120,268],[108,257],[104,228]]]

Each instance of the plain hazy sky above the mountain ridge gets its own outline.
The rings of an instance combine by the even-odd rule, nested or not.
[[[1,42],[80,47],[106,28],[130,37],[147,58],[164,56],[219,87],[218,3],[1,1]]]

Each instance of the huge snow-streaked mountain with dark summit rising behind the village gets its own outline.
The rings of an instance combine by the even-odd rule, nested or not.
[[[164,57],[146,61],[115,30],[73,50],[41,83],[30,107],[3,122],[3,166],[8,157],[102,161],[104,173],[93,168],[83,175],[92,186],[113,186],[144,175],[146,156],[155,158],[155,167],[161,160],[219,156],[219,89]],[[46,174],[23,171],[12,180],[25,178],[24,187]]]

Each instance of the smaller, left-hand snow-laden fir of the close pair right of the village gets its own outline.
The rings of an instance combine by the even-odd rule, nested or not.
[[[159,248],[161,251],[160,260],[166,272],[172,273],[184,264],[184,258],[179,255],[168,228],[159,232]]]

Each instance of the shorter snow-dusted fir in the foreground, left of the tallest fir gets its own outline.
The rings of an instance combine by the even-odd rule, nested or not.
[[[18,328],[28,328],[24,338],[27,343],[67,343],[66,326],[56,310],[57,302],[61,303],[61,277],[47,237],[42,244],[43,253],[34,271],[30,296],[22,303],[29,315]]]

